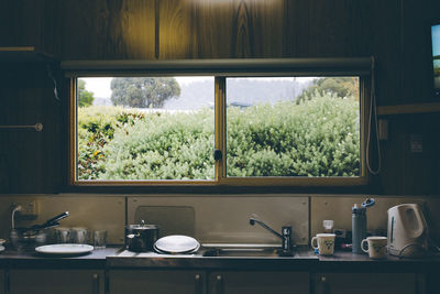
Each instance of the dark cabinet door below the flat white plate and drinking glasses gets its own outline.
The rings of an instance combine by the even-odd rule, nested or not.
[[[103,271],[10,270],[10,294],[103,294]]]

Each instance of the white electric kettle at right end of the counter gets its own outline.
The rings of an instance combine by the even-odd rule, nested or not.
[[[417,204],[402,204],[388,209],[388,253],[422,257],[428,249],[425,216]]]

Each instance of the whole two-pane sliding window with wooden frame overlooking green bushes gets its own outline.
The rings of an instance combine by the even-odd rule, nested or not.
[[[73,70],[70,183],[364,184],[364,64]]]

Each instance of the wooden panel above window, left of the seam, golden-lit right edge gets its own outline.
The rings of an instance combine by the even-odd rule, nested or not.
[[[63,58],[154,58],[154,0],[68,0],[62,11]]]

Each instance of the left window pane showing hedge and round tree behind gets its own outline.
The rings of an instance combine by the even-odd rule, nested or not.
[[[213,77],[77,79],[77,179],[213,179]]]

